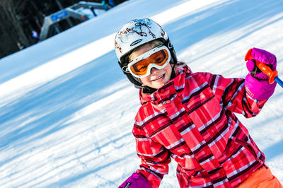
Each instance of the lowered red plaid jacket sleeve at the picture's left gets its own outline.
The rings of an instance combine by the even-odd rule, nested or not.
[[[163,175],[168,174],[170,153],[160,143],[146,137],[144,129],[137,124],[134,124],[132,133],[136,140],[137,155],[141,158],[137,172],[149,180],[151,187],[159,187]]]

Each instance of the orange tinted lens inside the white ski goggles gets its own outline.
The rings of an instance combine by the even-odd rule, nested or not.
[[[149,65],[157,65],[154,66],[158,68],[158,66],[163,66],[164,64],[168,64],[169,54],[168,50],[161,49],[158,52],[155,52],[154,54],[151,54],[149,57],[146,57],[145,59],[141,59],[140,61],[137,61],[136,63],[132,64],[130,66],[131,72],[134,75],[137,76],[144,76],[147,74],[147,71],[149,69]]]

